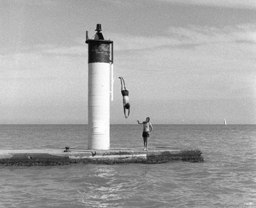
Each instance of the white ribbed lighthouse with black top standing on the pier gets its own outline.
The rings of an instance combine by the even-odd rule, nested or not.
[[[88,38],[88,149],[109,149],[109,100],[113,100],[113,41],[104,40],[101,24]],[[111,86],[111,87],[110,87]],[[111,89],[110,89],[111,88]]]

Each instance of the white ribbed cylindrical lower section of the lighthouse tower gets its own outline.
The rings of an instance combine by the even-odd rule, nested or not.
[[[88,148],[109,148],[109,63],[88,66]]]

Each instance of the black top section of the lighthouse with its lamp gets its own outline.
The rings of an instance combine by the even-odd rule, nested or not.
[[[97,31],[97,33],[95,34],[94,39],[89,39],[87,35],[88,32],[86,31],[86,44],[88,44],[88,63],[109,63],[110,61],[113,63],[113,41],[104,40],[104,36],[100,32],[101,24],[97,24],[95,31]],[[111,54],[110,44],[112,45]]]

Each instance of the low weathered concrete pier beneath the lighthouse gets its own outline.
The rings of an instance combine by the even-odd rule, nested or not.
[[[118,163],[168,163],[170,161],[204,161],[201,150],[150,149],[143,150],[118,148],[109,150],[34,149],[0,150],[0,165],[10,166],[49,166],[61,164],[118,164]]]

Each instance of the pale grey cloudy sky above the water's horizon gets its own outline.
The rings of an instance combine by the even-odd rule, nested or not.
[[[4,0],[0,17],[0,124],[87,124],[96,24],[114,42],[111,124],[256,124],[255,0]]]

